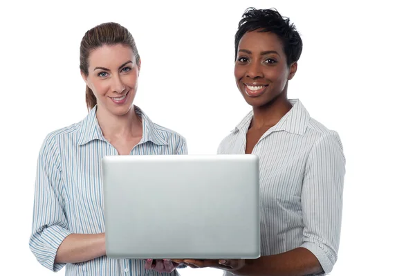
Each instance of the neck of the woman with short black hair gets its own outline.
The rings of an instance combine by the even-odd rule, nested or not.
[[[275,100],[262,107],[254,107],[254,116],[250,128],[261,129],[277,125],[277,122],[290,111],[291,107],[293,106],[288,101],[286,93],[282,93]]]

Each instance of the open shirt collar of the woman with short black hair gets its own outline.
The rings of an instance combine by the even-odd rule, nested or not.
[[[310,120],[310,114],[300,100],[290,99],[288,101],[293,107],[269,131],[287,131],[292,134],[304,135]],[[248,131],[253,115],[254,113],[251,110],[233,131]]]

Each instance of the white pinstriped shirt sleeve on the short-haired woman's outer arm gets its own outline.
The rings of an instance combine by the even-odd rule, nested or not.
[[[337,261],[342,223],[346,160],[335,131],[323,135],[311,149],[302,187],[303,248],[330,273]]]

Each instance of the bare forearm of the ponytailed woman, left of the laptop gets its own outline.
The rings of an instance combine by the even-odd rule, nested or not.
[[[55,263],[81,263],[106,254],[105,234],[70,234],[57,249]]]

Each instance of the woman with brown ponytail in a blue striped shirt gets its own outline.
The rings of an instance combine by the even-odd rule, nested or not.
[[[101,159],[107,155],[187,154],[185,138],[156,125],[133,104],[140,55],[116,23],[87,31],[80,71],[89,113],[46,136],[39,152],[30,250],[40,264],[66,275],[178,275],[178,264],[109,259],[105,254]]]

